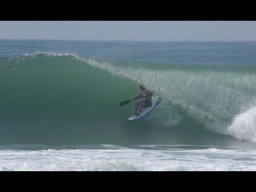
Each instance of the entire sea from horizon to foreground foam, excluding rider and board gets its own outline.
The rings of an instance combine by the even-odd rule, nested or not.
[[[0,171],[256,170],[255,50],[0,40]],[[130,122],[140,84],[161,103]]]

